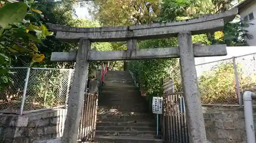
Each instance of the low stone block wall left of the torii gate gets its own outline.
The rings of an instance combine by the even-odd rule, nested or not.
[[[27,113],[23,116],[0,115],[0,142],[30,143],[62,136],[66,109]]]

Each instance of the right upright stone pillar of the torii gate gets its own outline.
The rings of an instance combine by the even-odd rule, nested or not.
[[[190,143],[205,143],[206,133],[190,32],[179,33],[182,87]]]

